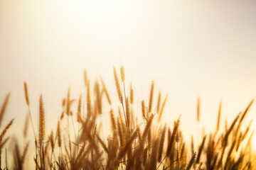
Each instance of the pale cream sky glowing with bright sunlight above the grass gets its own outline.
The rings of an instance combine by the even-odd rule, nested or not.
[[[16,118],[23,128],[26,80],[34,122],[42,93],[46,123],[55,128],[68,86],[73,98],[85,92],[83,69],[92,80],[102,76],[118,103],[112,67],[124,64],[135,111],[154,79],[155,101],[159,89],[169,93],[166,122],[182,114],[190,139],[201,96],[201,125],[215,130],[221,99],[224,126],[256,96],[255,30],[256,1],[0,0],[1,103],[11,91],[4,122]],[[255,116],[256,103],[246,121]]]

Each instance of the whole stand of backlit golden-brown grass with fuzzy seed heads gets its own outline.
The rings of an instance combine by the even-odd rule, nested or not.
[[[129,96],[125,95],[124,67],[120,68],[121,78],[114,71],[114,81],[117,89],[117,100],[120,106],[114,109],[110,100],[110,94],[103,79],[101,84],[95,81],[91,86],[90,79],[84,71],[86,101],[82,101],[82,94],[78,98],[77,114],[71,105],[75,100],[71,98],[71,90],[68,89],[66,98],[63,98],[62,113],[56,120],[55,130],[46,132],[45,111],[42,95],[39,98],[39,126],[36,136],[33,121],[31,127],[35,134],[35,146],[29,145],[26,132],[28,131],[28,115],[31,118],[30,103],[28,98],[28,86],[24,82],[25,100],[28,106],[28,115],[23,131],[23,141],[26,145],[21,147],[16,140],[11,140],[9,146],[13,145],[13,152],[6,157],[13,157],[8,167],[0,164],[1,169],[31,169],[28,160],[33,159],[34,169],[256,169],[255,157],[251,149],[252,121],[248,125],[242,125],[253,100],[245,111],[239,113],[233,122],[228,125],[225,120],[225,130],[221,132],[220,117],[222,103],[218,109],[215,132],[206,134],[203,132],[201,141],[194,143],[186,142],[180,130],[182,123],[178,118],[174,126],[161,125],[161,117],[167,104],[168,94],[161,101],[159,91],[156,103],[154,98],[154,81],[151,82],[149,99],[141,101],[142,120],[134,114],[134,89],[129,86]],[[122,95],[119,81],[123,84]],[[0,125],[8,105],[10,93],[6,95],[0,111]],[[105,97],[104,97],[105,96]],[[149,105],[145,105],[149,101]],[[110,107],[110,111],[105,108]],[[198,98],[196,120],[200,120],[201,99]],[[100,114],[110,116],[110,131],[102,133]],[[155,112],[155,111],[156,112]],[[115,114],[117,113],[117,114]],[[76,117],[75,119],[73,117]],[[76,120],[76,121],[74,121]],[[14,120],[2,130],[0,135],[0,151],[9,142],[10,137],[5,137]],[[103,120],[105,123],[105,120]],[[157,123],[157,124],[156,124]],[[245,128],[241,128],[245,127]],[[189,145],[189,143],[191,145]],[[55,147],[55,146],[58,147]],[[33,152],[34,154],[27,154]],[[2,161],[2,158],[0,158]],[[6,160],[7,162],[7,160]],[[9,163],[10,164],[10,163]]]

